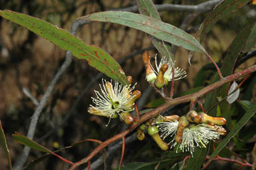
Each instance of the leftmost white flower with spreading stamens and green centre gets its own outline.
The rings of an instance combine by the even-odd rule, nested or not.
[[[113,88],[112,81],[107,82],[103,80],[103,86],[100,84],[100,87],[101,93],[94,90],[97,98],[92,98],[95,106],[90,105],[88,108],[90,114],[114,118],[121,112],[133,110],[134,96],[131,95],[131,91],[134,89],[134,86],[123,86],[123,84],[115,82]]]

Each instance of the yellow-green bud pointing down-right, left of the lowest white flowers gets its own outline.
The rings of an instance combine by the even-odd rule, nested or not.
[[[159,136],[157,126],[149,126],[147,129],[147,133],[155,140],[155,143],[163,150],[168,150],[169,146],[167,143],[165,143],[161,137]]]

